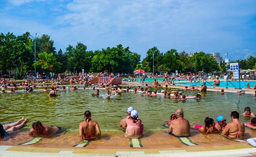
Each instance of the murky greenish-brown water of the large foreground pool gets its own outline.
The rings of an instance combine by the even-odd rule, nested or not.
[[[161,91],[161,89],[165,88],[157,88],[157,91]],[[169,88],[166,91],[172,90]],[[29,123],[25,128],[17,131],[17,136],[6,138],[1,142],[18,144],[30,140],[32,137],[28,136],[29,128],[32,127],[33,122],[39,120],[43,125],[61,126],[71,131],[60,137],[46,139],[36,145],[62,146],[66,143],[65,146],[72,146],[79,142],[79,123],[84,120],[84,111],[86,110],[91,111],[92,119],[99,123],[102,130],[103,141],[99,140],[93,143],[101,145],[103,142],[106,146],[110,144],[109,138],[117,143],[118,141],[125,143],[128,140],[124,137],[125,133],[120,130],[119,123],[126,116],[127,108],[130,106],[138,111],[139,118],[143,122],[145,131],[143,140],[151,141],[152,144],[155,138],[164,138],[160,136],[162,133],[159,131],[159,127],[163,128],[164,120],[169,120],[170,115],[174,114],[177,108],[182,108],[184,117],[194,124],[204,124],[205,117],[212,117],[215,120],[218,115],[223,115],[227,122],[230,122],[230,112],[238,111],[242,114],[246,106],[249,106],[252,112],[256,112],[256,99],[250,94],[225,93],[221,95],[217,91],[207,91],[207,93],[202,94],[202,100],[189,99],[186,102],[181,102],[161,96],[145,97],[143,94],[133,92],[123,92],[121,97],[107,100],[92,97],[93,92],[96,93],[92,89],[60,91],[60,96],[53,98],[48,97],[48,92],[0,94],[1,124],[17,121],[23,116],[29,117]],[[105,92],[107,91],[100,90],[100,93]],[[183,93],[196,95],[198,91],[183,91]],[[249,122],[250,117],[241,116],[239,120]],[[200,143],[200,139],[204,135],[198,131],[192,132],[194,139]],[[255,132],[250,130],[250,134],[246,136],[251,137]],[[218,137],[220,135],[214,136],[217,136],[215,138],[218,140],[222,140],[222,137]],[[206,141],[212,142],[211,138],[204,138],[207,138]],[[125,140],[120,142],[122,139]],[[164,144],[163,141],[162,144]]]

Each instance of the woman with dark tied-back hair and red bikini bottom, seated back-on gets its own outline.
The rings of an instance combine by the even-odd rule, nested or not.
[[[92,140],[101,136],[101,131],[99,129],[99,124],[91,119],[90,111],[84,112],[84,122],[79,124],[79,137],[81,141]],[[97,131],[97,135],[96,135]]]

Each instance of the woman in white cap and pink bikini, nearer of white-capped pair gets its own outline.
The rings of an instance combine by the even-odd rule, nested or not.
[[[138,112],[136,110],[131,111],[131,116],[126,120],[125,137],[139,138],[143,134],[143,125],[141,120],[138,119]]]

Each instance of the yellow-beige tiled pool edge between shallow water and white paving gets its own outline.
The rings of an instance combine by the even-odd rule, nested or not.
[[[15,152],[43,152],[43,153],[70,153],[70,154],[161,154],[167,152],[198,152],[198,151],[225,151],[233,149],[252,149],[256,148],[247,143],[222,145],[222,146],[186,146],[181,148],[140,148],[140,149],[92,149],[92,148],[46,148],[30,146],[0,146],[0,151]]]

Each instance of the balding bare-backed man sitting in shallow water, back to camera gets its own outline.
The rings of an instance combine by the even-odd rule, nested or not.
[[[177,109],[175,112],[177,119],[172,120],[168,129],[169,134],[180,137],[190,135],[190,124],[189,121],[184,117],[182,109]]]

